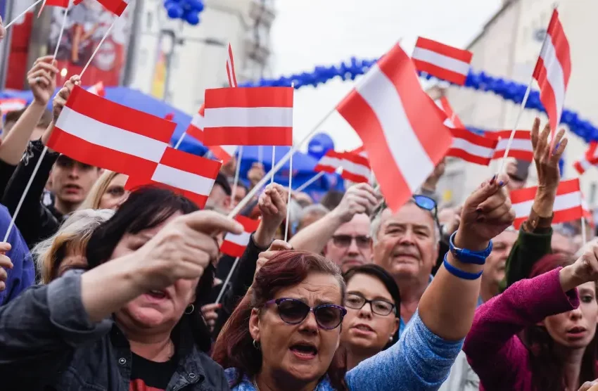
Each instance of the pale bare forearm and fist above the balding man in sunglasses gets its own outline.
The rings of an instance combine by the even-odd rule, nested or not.
[[[299,231],[289,244],[295,250],[320,254],[339,226],[350,222],[355,214],[371,212],[376,203],[376,193],[369,184],[351,186],[332,212]]]

